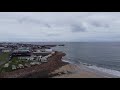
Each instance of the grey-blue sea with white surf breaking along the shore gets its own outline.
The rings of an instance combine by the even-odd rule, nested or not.
[[[120,42],[37,42],[34,44],[64,44],[53,47],[66,53],[63,58],[76,65],[120,76]]]

